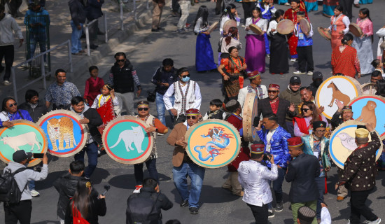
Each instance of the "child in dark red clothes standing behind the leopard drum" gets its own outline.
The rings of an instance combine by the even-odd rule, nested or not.
[[[94,104],[94,99],[100,93],[100,89],[104,85],[103,78],[99,78],[99,69],[97,66],[90,66],[90,78],[85,81],[84,101],[88,105]]]

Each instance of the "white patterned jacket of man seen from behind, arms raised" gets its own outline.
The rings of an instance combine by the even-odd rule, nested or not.
[[[269,170],[265,165],[254,160],[242,161],[238,168],[238,181],[244,188],[242,200],[248,204],[262,207],[272,202],[269,181],[278,178],[278,168],[272,164]]]

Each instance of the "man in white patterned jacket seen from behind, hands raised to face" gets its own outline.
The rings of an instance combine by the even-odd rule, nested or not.
[[[251,145],[251,159],[239,164],[238,180],[244,188],[243,200],[251,208],[255,224],[266,224],[268,219],[268,204],[272,202],[272,191],[269,181],[278,178],[278,168],[274,163],[274,156],[263,153],[265,145]],[[271,163],[271,170],[264,160]]]

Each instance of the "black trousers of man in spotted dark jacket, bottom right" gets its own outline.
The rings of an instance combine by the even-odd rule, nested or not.
[[[360,216],[365,217],[368,221],[375,221],[378,218],[365,204],[367,196],[369,196],[372,190],[350,192],[350,223],[361,223]]]

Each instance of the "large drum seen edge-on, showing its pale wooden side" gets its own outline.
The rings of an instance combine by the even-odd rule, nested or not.
[[[242,127],[244,129],[244,140],[253,142],[257,137],[257,129],[253,127],[253,120],[258,114],[257,94],[249,92],[246,94],[244,105],[242,105]]]

